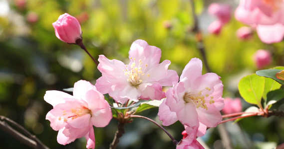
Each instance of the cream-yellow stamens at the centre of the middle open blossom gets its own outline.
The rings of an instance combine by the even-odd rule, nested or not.
[[[131,59],[131,62],[132,62],[132,58]],[[145,75],[142,71],[142,60],[140,59],[139,60],[139,65],[136,66],[136,63],[135,63],[135,58],[133,59],[134,61],[131,63],[131,66],[130,66],[130,69],[128,70],[128,66],[126,65],[126,70],[123,70],[124,74],[128,77],[127,81],[129,82],[129,84],[131,86],[134,86],[134,87],[137,87],[139,84],[142,83],[142,79],[141,77],[143,75]],[[148,64],[145,64],[145,69],[148,67]],[[144,69],[144,72],[145,72],[145,69]],[[149,77],[150,74],[147,74],[147,76]]]

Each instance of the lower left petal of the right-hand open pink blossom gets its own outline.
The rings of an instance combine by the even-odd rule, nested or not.
[[[170,108],[166,105],[166,100],[164,99],[163,102],[159,106],[159,120],[163,121],[164,126],[170,126],[178,121],[176,112],[170,111]]]

